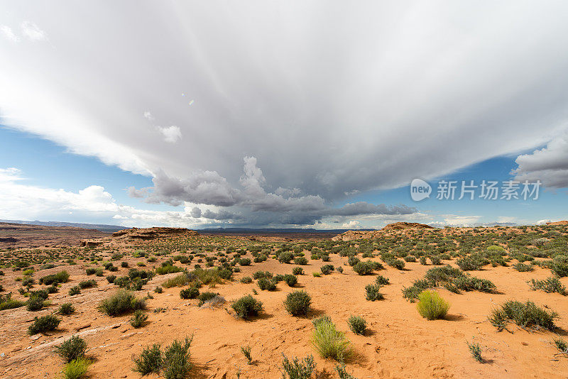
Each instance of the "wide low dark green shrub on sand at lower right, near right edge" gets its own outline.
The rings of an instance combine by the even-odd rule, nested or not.
[[[556,312],[548,312],[530,300],[527,300],[525,303],[509,300],[503,303],[501,307],[492,309],[489,321],[499,330],[503,330],[503,324],[508,320],[512,320],[518,326],[554,331],[556,328],[554,322],[557,318],[558,314]]]

